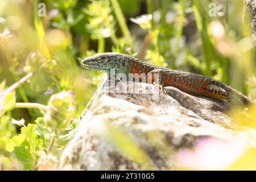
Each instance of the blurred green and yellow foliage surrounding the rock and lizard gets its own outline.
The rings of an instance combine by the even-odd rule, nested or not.
[[[0,0],[0,169],[56,167],[73,137],[75,118],[101,81],[102,73],[80,67],[81,59],[96,52],[127,53],[201,73],[256,98],[255,47],[242,1],[40,3],[45,10],[39,1]],[[230,114],[238,129],[255,127],[254,108]],[[15,127],[11,118],[26,123]],[[138,158],[140,149],[126,136],[111,138],[121,139],[114,140],[121,150],[127,149],[122,142],[135,148],[131,159],[147,160]]]

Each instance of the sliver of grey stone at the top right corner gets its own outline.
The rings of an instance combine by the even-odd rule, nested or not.
[[[251,22],[251,36],[253,38],[254,45],[256,46],[256,0],[244,0],[249,11]]]

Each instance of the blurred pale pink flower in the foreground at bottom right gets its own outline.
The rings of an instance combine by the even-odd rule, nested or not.
[[[200,170],[221,170],[229,167],[245,151],[242,141],[219,138],[199,139],[194,150],[180,150],[175,155],[178,167]]]

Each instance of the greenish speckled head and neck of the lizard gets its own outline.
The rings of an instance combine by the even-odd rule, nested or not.
[[[81,61],[82,67],[98,71],[110,72],[115,69],[115,73],[126,73],[128,60],[131,56],[117,52],[97,53]]]

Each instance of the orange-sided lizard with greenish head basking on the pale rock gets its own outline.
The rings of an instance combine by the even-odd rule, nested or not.
[[[251,101],[245,95],[211,77],[158,67],[123,53],[96,53],[96,55],[83,59],[81,65],[84,68],[104,71],[108,75],[110,69],[114,69],[115,73],[123,73],[126,76],[129,73],[145,73],[146,75],[151,73],[152,81],[154,81],[154,74],[158,73],[159,85],[162,85],[163,88],[164,86],[172,86],[195,96],[205,96],[229,102],[233,101],[233,98],[237,98],[242,102],[242,105],[251,104]]]

